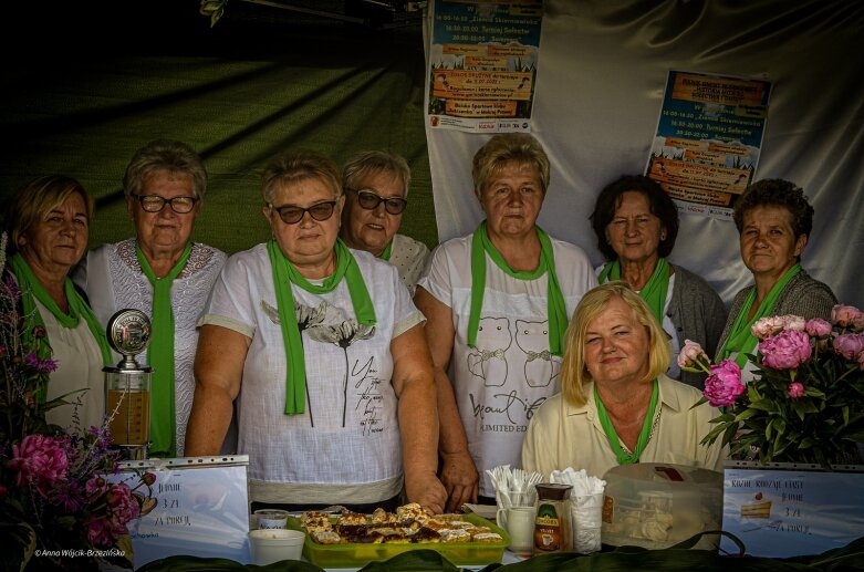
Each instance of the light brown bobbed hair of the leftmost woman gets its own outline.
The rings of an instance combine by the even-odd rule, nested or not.
[[[46,175],[31,180],[15,193],[7,207],[6,231],[9,235],[7,251],[18,252],[21,237],[45,218],[45,215],[61,206],[73,193],[84,199],[87,222],[93,219],[94,201],[87,190],[72,177]]]

